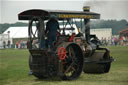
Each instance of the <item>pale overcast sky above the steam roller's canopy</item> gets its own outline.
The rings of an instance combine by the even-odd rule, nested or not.
[[[81,10],[84,5],[101,19],[126,19],[128,0],[0,0],[0,23],[15,23],[18,13],[28,9]]]

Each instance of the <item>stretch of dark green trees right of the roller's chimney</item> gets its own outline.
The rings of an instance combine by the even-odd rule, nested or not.
[[[91,28],[112,28],[112,34],[118,35],[123,29],[128,28],[128,21],[123,20],[99,20],[92,21]]]

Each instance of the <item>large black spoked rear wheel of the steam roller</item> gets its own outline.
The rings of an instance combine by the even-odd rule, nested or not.
[[[64,75],[61,77],[63,80],[73,80],[80,76],[83,67],[83,60],[80,56],[78,49],[69,45],[66,48],[66,58],[64,62]]]

